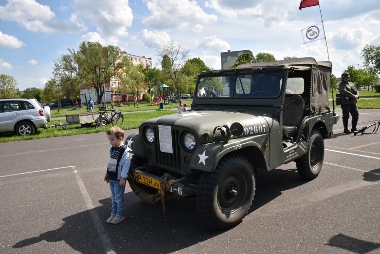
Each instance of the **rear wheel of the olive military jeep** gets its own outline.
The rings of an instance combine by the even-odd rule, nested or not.
[[[312,180],[319,175],[323,165],[325,144],[321,133],[313,129],[308,140],[308,151],[295,161],[297,171],[305,180]]]

